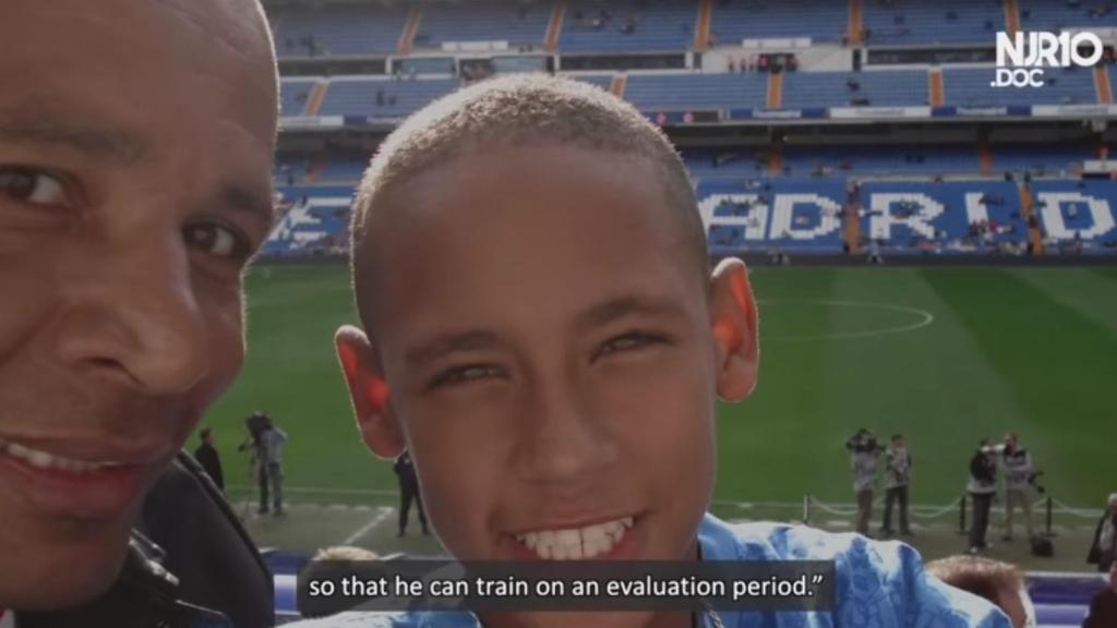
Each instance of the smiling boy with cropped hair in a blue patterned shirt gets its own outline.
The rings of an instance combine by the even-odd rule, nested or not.
[[[907,545],[707,514],[717,399],[756,384],[756,303],[739,260],[710,275],[685,166],[631,105],[543,76],[440,99],[384,141],[352,232],[364,330],[336,344],[359,429],[411,453],[454,556],[833,560],[837,603],[305,626],[1008,626]]]

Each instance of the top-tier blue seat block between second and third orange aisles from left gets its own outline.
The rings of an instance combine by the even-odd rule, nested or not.
[[[697,0],[572,0],[563,53],[686,50],[694,44]]]

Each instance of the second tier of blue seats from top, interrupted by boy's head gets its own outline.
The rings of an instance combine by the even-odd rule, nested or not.
[[[398,120],[461,85],[449,73],[414,77],[355,76],[285,78],[283,115],[342,115]],[[930,96],[927,69],[866,72],[787,72],[773,80],[765,73],[628,73],[613,88],[613,73],[574,74],[613,92],[640,111],[825,110],[828,107],[926,107]],[[1113,68],[1109,74],[1117,80]],[[1091,105],[1099,103],[1097,77],[1089,69],[1049,69],[1042,87],[990,87],[992,67],[942,70],[942,105],[1011,107],[1020,105]],[[1117,83],[1115,83],[1117,84]],[[314,98],[314,87],[319,98]]]

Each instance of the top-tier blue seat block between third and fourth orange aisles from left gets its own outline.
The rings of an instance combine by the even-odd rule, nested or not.
[[[846,36],[849,4],[830,0],[715,0],[713,32],[719,45],[744,39],[810,37],[839,41]]]

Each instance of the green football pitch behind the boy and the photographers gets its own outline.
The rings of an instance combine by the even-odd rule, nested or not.
[[[844,439],[903,432],[913,502],[948,504],[982,436],[1020,434],[1059,502],[1117,489],[1117,268],[757,268],[756,392],[718,416],[716,499],[852,501]],[[290,441],[290,502],[360,503],[395,488],[357,439],[333,354],[354,323],[346,269],[264,266],[248,285],[248,345],[216,428],[232,493],[247,489],[244,418]],[[191,441],[191,448],[195,441]]]

